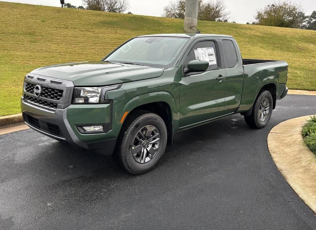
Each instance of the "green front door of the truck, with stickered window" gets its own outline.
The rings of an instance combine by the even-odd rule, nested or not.
[[[208,57],[212,55],[215,57]],[[188,62],[195,59],[207,59],[210,65],[204,72],[181,76],[180,127],[189,127],[224,115],[226,72],[221,64],[217,40],[197,42],[187,54],[179,72],[183,73]]]

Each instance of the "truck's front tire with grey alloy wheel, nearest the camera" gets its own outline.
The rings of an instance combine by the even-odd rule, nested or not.
[[[136,111],[122,127],[114,157],[128,173],[142,174],[159,163],[166,145],[167,128],[162,118],[155,113]]]

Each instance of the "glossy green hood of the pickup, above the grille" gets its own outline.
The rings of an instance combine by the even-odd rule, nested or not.
[[[74,82],[75,86],[102,86],[159,77],[163,69],[111,62],[75,62],[50,65],[31,73]]]

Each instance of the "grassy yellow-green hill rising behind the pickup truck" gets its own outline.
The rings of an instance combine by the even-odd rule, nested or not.
[[[286,60],[291,89],[316,90],[316,31],[198,21],[229,34],[243,58]],[[100,60],[131,37],[183,33],[183,20],[0,2],[0,116],[20,112],[25,74],[44,65]]]

